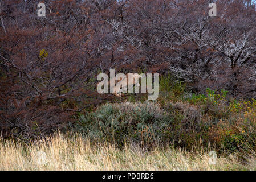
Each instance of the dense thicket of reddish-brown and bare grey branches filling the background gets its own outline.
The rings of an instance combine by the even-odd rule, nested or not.
[[[1,1],[0,129],[49,133],[75,111],[107,98],[96,75],[166,72],[190,89],[256,93],[253,1]]]

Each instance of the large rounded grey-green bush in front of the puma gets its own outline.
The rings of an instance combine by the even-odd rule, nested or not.
[[[123,102],[103,105],[94,113],[80,117],[76,129],[119,146],[131,141],[150,145],[164,138],[170,122],[172,119],[157,104]]]

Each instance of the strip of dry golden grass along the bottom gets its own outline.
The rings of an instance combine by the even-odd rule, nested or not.
[[[74,135],[75,136],[75,135]],[[208,152],[195,154],[168,147],[143,151],[128,145],[119,149],[111,144],[92,143],[78,137],[56,134],[30,144],[0,140],[0,170],[255,170],[255,156],[239,163],[234,157],[217,158],[209,164]],[[45,154],[45,158],[44,158]]]

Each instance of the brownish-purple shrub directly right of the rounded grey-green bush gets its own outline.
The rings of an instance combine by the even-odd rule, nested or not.
[[[202,143],[200,142],[203,142],[205,146],[207,145],[207,132],[212,123],[205,122],[200,107],[188,102],[178,101],[173,103],[170,101],[164,108],[174,117],[170,133],[176,146],[192,149],[201,147]]]

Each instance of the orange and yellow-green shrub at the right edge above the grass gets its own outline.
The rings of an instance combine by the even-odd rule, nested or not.
[[[212,127],[210,138],[224,152],[256,149],[256,110],[233,114]]]

